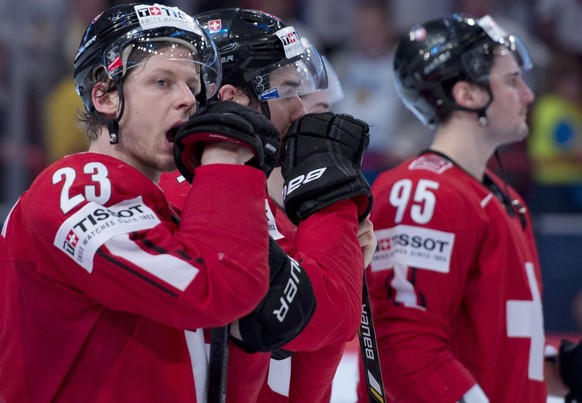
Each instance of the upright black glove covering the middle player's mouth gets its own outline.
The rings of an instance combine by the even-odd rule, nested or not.
[[[283,202],[295,224],[343,199],[354,199],[359,219],[372,208],[370,185],[360,170],[368,124],[350,115],[311,113],[291,124],[281,157]]]

